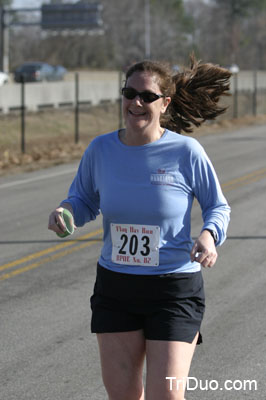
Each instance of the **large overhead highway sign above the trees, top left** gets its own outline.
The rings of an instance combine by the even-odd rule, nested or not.
[[[42,29],[98,29],[103,25],[102,5],[92,4],[44,4],[42,5]]]

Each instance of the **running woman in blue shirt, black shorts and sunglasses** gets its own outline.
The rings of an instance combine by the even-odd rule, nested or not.
[[[50,215],[57,233],[63,208],[77,227],[103,215],[91,329],[109,400],[184,399],[201,342],[201,266],[216,262],[230,207],[204,149],[181,132],[225,111],[218,101],[229,78],[193,57],[176,75],[159,62],[131,66],[122,89],[125,129],[91,142],[67,199]],[[203,224],[193,242],[194,198]],[[170,390],[166,377],[182,384]]]

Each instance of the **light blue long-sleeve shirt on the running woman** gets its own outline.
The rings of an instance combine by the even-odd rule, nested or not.
[[[195,272],[191,208],[197,198],[203,229],[226,238],[230,207],[197,140],[166,130],[142,146],[124,145],[118,131],[95,138],[85,151],[68,198],[77,226],[103,215],[99,263],[131,274]],[[62,202],[62,203],[63,203]]]

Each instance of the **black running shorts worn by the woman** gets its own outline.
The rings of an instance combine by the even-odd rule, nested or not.
[[[192,343],[205,308],[202,274],[132,275],[98,264],[91,308],[93,333],[141,329],[146,339]]]

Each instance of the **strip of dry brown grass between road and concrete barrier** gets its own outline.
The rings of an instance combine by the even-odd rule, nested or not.
[[[229,117],[228,117],[229,118]],[[206,123],[192,136],[214,134],[241,126],[266,124],[266,115]],[[80,140],[74,142],[73,110],[46,110],[26,115],[26,152],[20,147],[20,116],[0,117],[0,175],[31,171],[80,159],[93,137],[119,126],[118,104],[105,104],[80,112]]]

